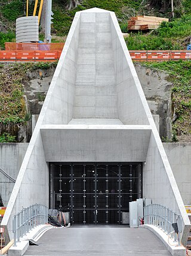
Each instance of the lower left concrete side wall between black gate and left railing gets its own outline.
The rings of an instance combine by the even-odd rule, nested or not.
[[[10,239],[13,237],[13,216],[23,207],[41,203],[48,206],[48,164],[45,162],[41,134],[34,132],[26,155],[14,184],[7,210],[1,225],[8,228]]]

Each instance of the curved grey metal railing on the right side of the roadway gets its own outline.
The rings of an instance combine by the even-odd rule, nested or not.
[[[178,233],[173,232],[172,224],[178,225]],[[181,216],[161,204],[149,204],[144,207],[144,224],[154,225],[174,238],[180,245]]]

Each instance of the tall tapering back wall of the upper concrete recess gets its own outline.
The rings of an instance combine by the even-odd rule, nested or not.
[[[75,85],[73,118],[118,118],[110,13],[81,13]]]

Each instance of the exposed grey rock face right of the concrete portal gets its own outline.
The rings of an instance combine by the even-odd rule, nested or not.
[[[161,137],[171,138],[173,115],[171,104],[172,84],[167,81],[168,74],[161,71],[153,71],[140,65],[135,65],[135,69],[151,113],[160,116]]]

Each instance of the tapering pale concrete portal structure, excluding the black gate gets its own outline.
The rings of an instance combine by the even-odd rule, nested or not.
[[[144,162],[143,197],[189,219],[115,13],[76,13],[2,225],[48,206],[48,162]]]

